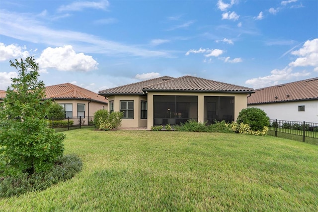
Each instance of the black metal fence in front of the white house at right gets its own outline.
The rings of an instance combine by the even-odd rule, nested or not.
[[[318,123],[271,119],[268,134],[318,145]]]

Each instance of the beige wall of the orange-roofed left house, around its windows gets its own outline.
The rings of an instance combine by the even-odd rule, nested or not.
[[[78,115],[78,104],[85,104],[85,116],[93,116],[97,110],[107,109],[107,104],[90,102],[88,100],[55,100],[55,102],[58,104],[72,104],[73,117]]]

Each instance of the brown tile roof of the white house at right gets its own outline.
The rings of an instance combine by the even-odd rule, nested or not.
[[[302,100],[318,100],[318,78],[286,83],[255,90],[248,105]]]

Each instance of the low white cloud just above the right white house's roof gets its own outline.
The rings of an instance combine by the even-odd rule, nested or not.
[[[271,72],[271,75],[265,77],[253,78],[245,81],[245,84],[251,85],[252,88],[264,88],[268,86],[274,86],[280,84],[280,81],[291,80],[297,77],[306,77],[309,76],[308,72],[296,72],[292,73],[291,67],[285,67],[282,70],[274,69]]]

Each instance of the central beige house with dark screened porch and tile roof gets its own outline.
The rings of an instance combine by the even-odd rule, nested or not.
[[[122,127],[147,127],[236,120],[247,107],[251,88],[192,76],[159,77],[98,93],[108,98],[109,111],[122,111]]]

